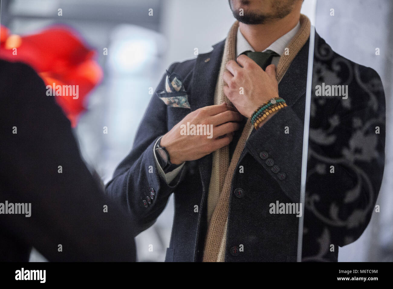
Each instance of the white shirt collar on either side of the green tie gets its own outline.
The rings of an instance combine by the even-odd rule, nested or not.
[[[279,39],[275,40],[268,48],[263,50],[263,52],[266,50],[272,50],[281,56],[281,54],[284,53],[285,48],[288,47],[289,42],[296,35],[299,29],[300,29],[300,21],[291,31],[284,34]],[[238,28],[237,41],[236,41],[236,55],[239,56],[241,53],[248,50],[255,51],[251,47],[250,43],[248,43],[248,41],[244,38],[243,34],[240,32],[240,28]]]

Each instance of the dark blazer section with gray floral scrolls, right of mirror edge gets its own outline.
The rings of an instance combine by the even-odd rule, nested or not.
[[[320,246],[303,261],[329,261],[378,212],[385,96],[375,70],[315,43],[303,252],[315,241]]]

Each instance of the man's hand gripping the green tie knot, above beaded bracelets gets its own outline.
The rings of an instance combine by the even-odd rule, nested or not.
[[[278,97],[274,64],[266,67],[265,72],[250,57],[242,54],[237,57],[237,63],[233,60],[228,61],[226,68],[228,71],[223,75],[227,84],[224,86],[224,94],[247,118],[258,107],[270,99]],[[244,94],[240,94],[241,88]]]

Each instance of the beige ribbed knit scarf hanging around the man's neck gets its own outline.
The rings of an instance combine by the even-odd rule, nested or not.
[[[289,54],[281,55],[277,65],[277,81],[281,81],[286,70],[289,68],[292,60],[304,46],[310,36],[310,20],[305,15],[300,16],[300,29],[288,45]],[[226,71],[226,63],[236,58],[236,35],[239,22],[236,21],[225,41],[224,54],[222,56],[219,78],[215,91],[215,104],[226,102],[227,105],[233,106],[224,94],[224,81],[222,75]],[[229,147],[223,147],[213,152],[213,164],[211,179],[208,192],[208,232],[206,234],[204,247],[204,262],[224,261],[223,250],[226,240],[226,223],[228,217],[228,206],[230,199],[230,190],[233,173],[239,161],[240,155],[248,136],[252,132],[253,126],[250,119],[242,131],[241,137],[236,145],[232,159],[229,159]],[[219,254],[220,252],[220,254]]]

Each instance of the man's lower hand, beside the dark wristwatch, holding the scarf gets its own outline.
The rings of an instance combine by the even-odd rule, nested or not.
[[[233,132],[240,127],[241,114],[225,103],[197,109],[185,116],[161,138],[160,145],[169,153],[172,164],[181,164],[187,160],[197,160],[224,147],[232,141]],[[207,135],[182,135],[181,125],[213,125],[212,137]],[[201,134],[202,132],[200,132]],[[221,138],[217,138],[221,137]]]

